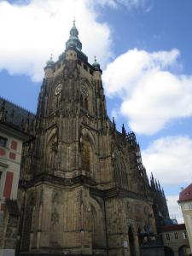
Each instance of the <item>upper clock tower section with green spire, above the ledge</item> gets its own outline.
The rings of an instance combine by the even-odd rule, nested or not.
[[[81,51],[79,32],[73,21],[66,50],[44,67],[45,76],[38,100],[38,140],[36,152],[41,160],[36,173],[56,177],[84,176],[94,183],[110,182],[100,172],[99,134],[108,125],[102,70],[90,65]],[[108,154],[108,148],[105,153]]]

